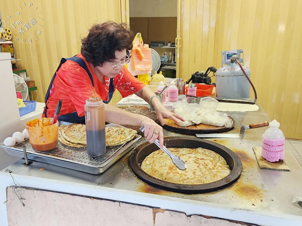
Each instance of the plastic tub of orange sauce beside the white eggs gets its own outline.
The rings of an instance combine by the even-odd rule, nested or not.
[[[51,125],[53,118],[36,118],[26,123],[31,146],[36,151],[48,151],[58,145],[59,121]]]

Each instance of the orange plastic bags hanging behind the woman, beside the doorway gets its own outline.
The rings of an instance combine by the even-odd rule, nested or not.
[[[131,64],[133,71],[152,71],[151,49],[148,44],[143,43],[140,33],[133,40]]]

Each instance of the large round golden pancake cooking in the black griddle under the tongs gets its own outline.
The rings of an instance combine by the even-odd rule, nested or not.
[[[141,168],[147,174],[175,184],[206,184],[220,180],[230,174],[226,161],[204,148],[168,148],[174,155],[185,161],[187,169],[179,170],[162,150],[148,155]]]

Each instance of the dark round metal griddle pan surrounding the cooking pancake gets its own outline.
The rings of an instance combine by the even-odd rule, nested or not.
[[[141,163],[143,160],[152,152],[158,150],[159,148],[154,143],[143,143],[133,150],[129,157],[129,162],[134,174],[146,182],[163,190],[168,190],[172,192],[185,193],[185,194],[198,194],[211,192],[219,190],[233,184],[239,177],[242,171],[242,162],[239,157],[230,149],[223,145],[217,144],[209,140],[201,140],[194,137],[165,137],[164,144],[167,148],[205,148],[217,152],[221,155],[226,163],[230,166],[231,173],[221,180],[211,182],[208,184],[175,184],[166,182],[163,180],[156,179],[150,176],[142,170]]]

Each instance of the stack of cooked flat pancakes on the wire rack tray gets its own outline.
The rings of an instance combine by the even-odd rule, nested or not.
[[[120,145],[132,140],[137,131],[129,128],[106,127],[106,146]],[[86,126],[70,124],[59,126],[59,141],[71,147],[86,147]]]

